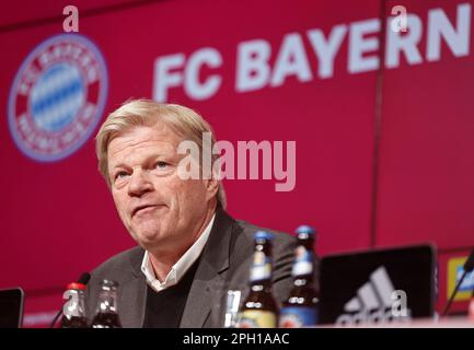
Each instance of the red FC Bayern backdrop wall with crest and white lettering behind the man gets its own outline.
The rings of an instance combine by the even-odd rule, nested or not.
[[[473,1],[83,0],[65,33],[68,4],[0,11],[0,288],[25,289],[25,326],[134,245],[93,139],[129,97],[190,106],[235,147],[269,142],[274,163],[294,141],[294,176],[224,180],[230,213],[313,224],[320,255],[432,242],[446,304],[474,244]]]

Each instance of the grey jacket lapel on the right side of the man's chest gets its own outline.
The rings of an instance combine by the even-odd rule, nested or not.
[[[222,272],[229,268],[229,249],[234,220],[223,210],[216,211],[216,219],[208,242],[199,260],[181,327],[200,328],[205,325],[212,307],[220,311],[224,287]],[[219,326],[219,325],[216,325]]]

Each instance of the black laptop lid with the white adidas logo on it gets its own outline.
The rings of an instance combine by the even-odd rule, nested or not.
[[[430,245],[324,257],[320,322],[352,325],[430,317],[435,271]]]

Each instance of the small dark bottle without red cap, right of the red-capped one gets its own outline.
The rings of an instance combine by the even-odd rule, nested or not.
[[[92,328],[122,328],[117,313],[117,289],[118,283],[111,280],[101,282],[99,303]]]

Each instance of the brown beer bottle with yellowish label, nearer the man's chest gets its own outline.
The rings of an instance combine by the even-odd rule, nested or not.
[[[278,307],[271,293],[271,238],[265,231],[255,233],[255,249],[250,273],[250,293],[243,302],[239,328],[277,327]]]

